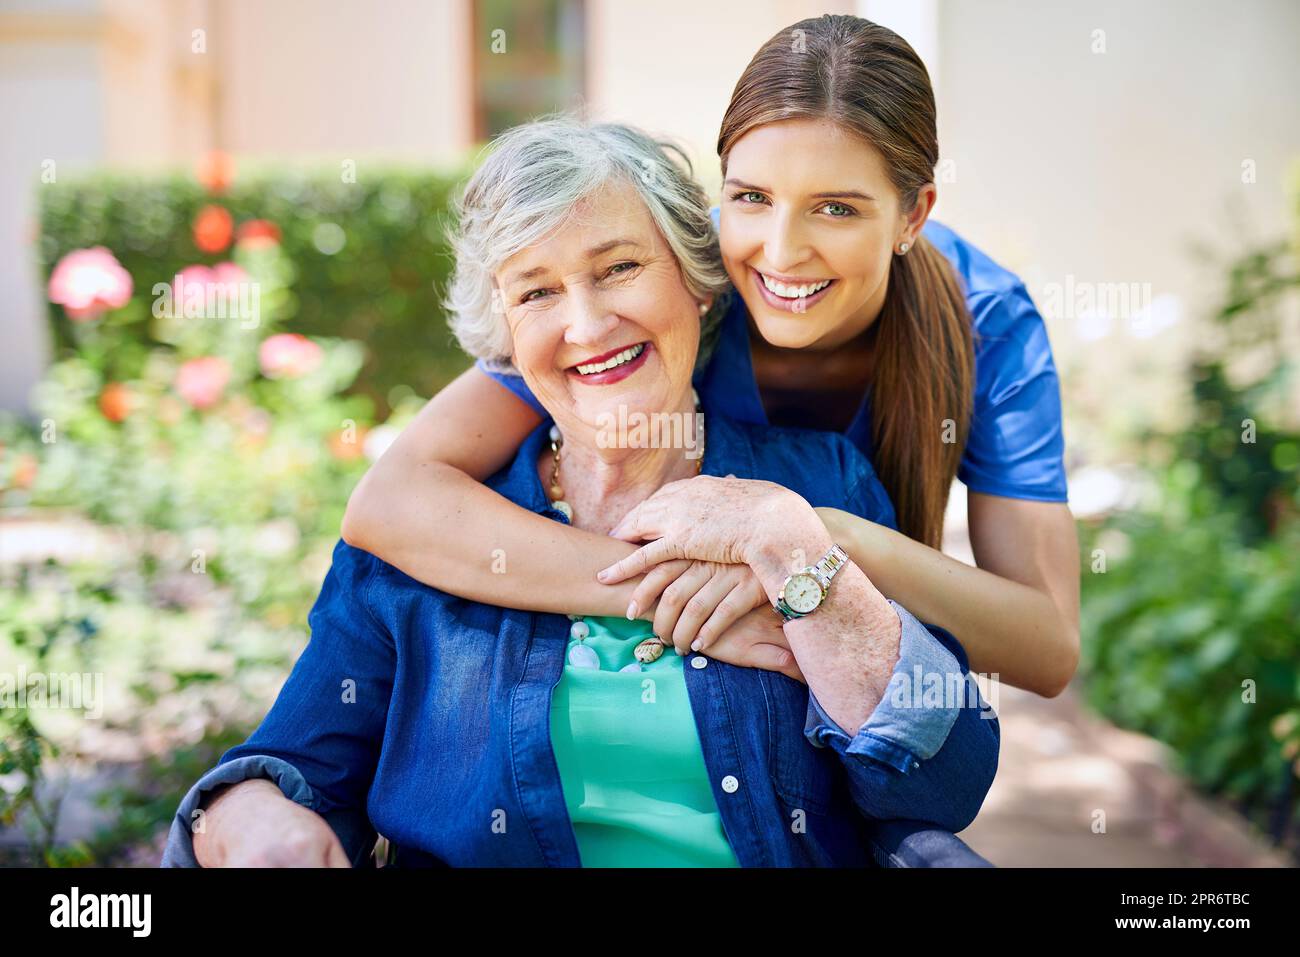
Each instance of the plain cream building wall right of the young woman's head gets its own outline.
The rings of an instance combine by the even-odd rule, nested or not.
[[[1019,272],[1046,316],[1075,460],[1139,419],[1176,425],[1183,364],[1205,346],[1196,320],[1222,302],[1222,257],[1295,220],[1300,5],[939,7],[939,133],[953,165],[936,216]],[[1098,303],[1109,283],[1139,304],[1089,311],[1082,283]]]

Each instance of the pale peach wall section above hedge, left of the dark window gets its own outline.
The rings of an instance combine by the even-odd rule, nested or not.
[[[437,161],[469,143],[467,0],[224,0],[217,22],[226,150]]]

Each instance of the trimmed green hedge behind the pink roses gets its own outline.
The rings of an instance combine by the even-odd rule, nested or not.
[[[468,360],[447,330],[441,298],[451,255],[447,203],[464,170],[367,169],[343,182],[339,169],[255,170],[212,192],[188,176],[100,173],[39,189],[44,278],[68,252],[105,246],[135,278],[131,303],[105,320],[105,378],[122,378],[160,341],[152,287],[204,254],[200,211],[229,211],[235,226],[269,221],[281,233],[285,328],[367,343],[355,390],[386,412],[389,393],[410,386],[432,395]],[[335,246],[342,242],[342,247]],[[51,306],[60,356],[78,350],[75,324]]]

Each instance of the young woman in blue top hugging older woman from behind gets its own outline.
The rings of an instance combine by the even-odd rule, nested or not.
[[[900,532],[819,510],[835,540],[887,597],[958,636],[971,671],[1058,694],[1078,663],[1079,557],[1056,368],[1024,286],[927,222],[939,147],[924,65],[868,21],[801,21],[745,69],[718,152],[736,294],[701,394],[736,419],[844,432]],[[727,571],[745,519],[718,507],[716,482],[666,485],[612,537],[481,485],[538,421],[517,374],[465,372],[367,473],[344,540],[469,599],[653,619],[679,653],[768,601]],[[978,568],[937,550],[954,476]]]

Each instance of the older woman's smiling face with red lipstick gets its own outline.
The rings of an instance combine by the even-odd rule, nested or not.
[[[630,185],[581,202],[494,277],[515,367],[566,441],[604,447],[608,416],[690,408],[699,303]]]

